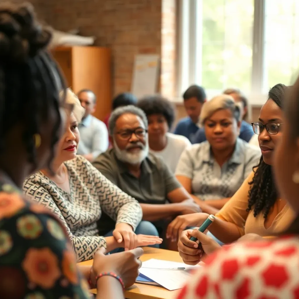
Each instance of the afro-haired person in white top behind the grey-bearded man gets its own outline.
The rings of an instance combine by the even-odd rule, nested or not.
[[[162,158],[174,173],[181,153],[191,143],[184,136],[168,132],[175,115],[172,104],[167,99],[155,95],[139,100],[137,107],[147,116],[149,152]]]

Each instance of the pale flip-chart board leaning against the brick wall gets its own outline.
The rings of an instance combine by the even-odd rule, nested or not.
[[[131,92],[138,99],[158,91],[160,57],[139,54],[135,56]]]

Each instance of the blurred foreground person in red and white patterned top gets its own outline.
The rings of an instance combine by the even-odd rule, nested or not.
[[[279,194],[293,208],[296,219],[279,238],[239,242],[208,256],[177,299],[299,298],[299,77],[287,92],[282,122],[274,176]],[[266,134],[265,124],[260,129]],[[219,247],[204,234],[193,231],[191,235],[207,254]]]

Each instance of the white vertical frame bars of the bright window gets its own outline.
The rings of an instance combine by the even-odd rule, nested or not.
[[[178,0],[178,62],[177,88],[175,102],[182,102],[182,93],[192,84],[201,82],[202,29],[198,26],[202,19],[203,0]],[[261,106],[267,94],[265,84],[264,32],[265,32],[265,1],[254,0],[254,25],[252,43],[251,91],[246,94],[249,105]],[[200,22],[201,23],[201,22]],[[228,86],[230,87],[230,86]],[[236,87],[236,86],[232,86]],[[207,98],[219,94],[219,90],[206,90]],[[251,110],[251,109],[249,109]],[[250,117],[251,115],[249,115]]]

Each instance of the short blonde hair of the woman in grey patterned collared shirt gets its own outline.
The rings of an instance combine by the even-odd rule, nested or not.
[[[200,124],[204,125],[207,118],[213,115],[216,111],[229,109],[233,117],[239,122],[241,117],[240,106],[235,103],[234,98],[228,94],[221,94],[213,97],[211,100],[204,103],[200,113]]]

